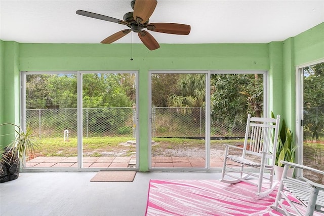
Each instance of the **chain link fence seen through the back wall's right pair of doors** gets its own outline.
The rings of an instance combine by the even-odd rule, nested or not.
[[[202,107],[152,107],[152,137],[205,137],[206,111]],[[211,137],[244,137],[246,121],[211,120]]]

